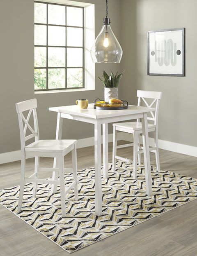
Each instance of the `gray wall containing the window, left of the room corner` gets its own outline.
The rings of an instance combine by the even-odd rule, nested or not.
[[[80,0],[78,0],[80,1]],[[105,17],[105,0],[84,0],[95,4],[95,35]],[[112,29],[119,39],[120,2],[109,4]],[[92,21],[94,22],[94,21]],[[50,106],[75,104],[76,99],[104,97],[104,89],[97,76],[105,70],[119,70],[120,64],[96,64],[96,90],[34,94],[34,1],[0,0],[0,153],[20,149],[18,119],[15,103],[36,98],[41,139],[55,138],[56,114]],[[110,132],[112,129],[110,127]],[[63,138],[82,139],[93,136],[92,124],[64,120]]]

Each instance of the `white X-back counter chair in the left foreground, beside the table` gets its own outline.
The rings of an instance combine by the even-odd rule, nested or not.
[[[37,100],[31,99],[28,101],[22,101],[16,103],[16,111],[18,113],[20,137],[21,137],[21,183],[20,183],[20,193],[18,200],[18,211],[21,211],[23,191],[25,183],[34,183],[33,187],[33,197],[36,197],[37,193],[37,183],[47,183],[60,185],[60,195],[61,195],[61,207],[62,216],[65,216],[65,196],[71,188],[74,188],[75,200],[78,200],[78,190],[77,190],[77,156],[76,156],[76,140],[40,140],[39,139],[39,129],[37,120]],[[24,111],[28,111],[27,118],[23,115]],[[33,114],[34,119],[34,129],[29,124],[30,116]],[[27,129],[30,134],[26,136]],[[34,142],[29,145],[25,145],[25,142],[29,139],[34,138]],[[64,169],[64,156],[72,152],[72,162],[73,169]],[[35,170],[34,173],[25,178],[25,159],[26,157],[35,157]],[[39,157],[55,157],[58,160],[58,168],[40,168],[39,167]],[[56,180],[52,179],[40,179],[38,178],[39,171],[55,171],[59,173],[60,178]],[[73,182],[69,184],[69,187],[65,190],[65,180],[64,172],[73,172]]]

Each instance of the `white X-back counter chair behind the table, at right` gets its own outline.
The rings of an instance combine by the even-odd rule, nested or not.
[[[140,91],[137,90],[138,103],[137,106],[141,106],[144,102],[149,108],[156,108],[156,111],[151,112],[151,117],[147,117],[152,123],[148,123],[148,132],[155,132],[155,146],[150,147],[149,151],[154,152],[156,155],[157,170],[160,171],[159,163],[159,151],[158,151],[158,111],[159,101],[161,99],[162,92]],[[147,99],[151,100],[151,103],[147,102]],[[133,134],[133,143],[117,146],[117,132],[126,132]],[[115,160],[119,159],[125,162],[131,161],[128,158],[119,157],[116,155],[117,148],[126,148],[133,146],[133,177],[137,177],[137,156],[138,163],[141,164],[141,154],[144,153],[143,147],[140,144],[140,134],[142,134],[142,123],[139,119],[137,122],[123,122],[113,124],[113,154],[112,154],[112,170],[115,171]]]

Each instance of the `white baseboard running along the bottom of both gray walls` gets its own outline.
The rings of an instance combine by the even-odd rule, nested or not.
[[[112,134],[108,135],[108,140],[109,142],[112,142]],[[133,141],[133,136],[125,132],[119,132],[118,140]],[[150,146],[154,146],[154,139],[149,138],[149,143],[150,143]],[[179,144],[171,141],[164,141],[160,139],[158,143],[159,143],[159,148],[161,149],[197,157],[197,147]],[[94,145],[94,137],[79,139],[77,141],[77,148],[85,148],[93,145]],[[0,164],[14,162],[18,160],[21,160],[21,150],[0,154]]]

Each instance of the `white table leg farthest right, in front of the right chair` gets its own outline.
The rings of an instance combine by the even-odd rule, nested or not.
[[[147,113],[144,113],[142,118],[142,139],[144,145],[144,167],[145,167],[145,179],[146,179],[146,190],[147,195],[152,195],[152,182],[151,182],[151,164],[150,164],[150,151],[149,151],[149,134],[148,134],[148,123]]]

